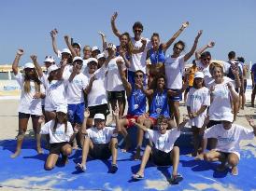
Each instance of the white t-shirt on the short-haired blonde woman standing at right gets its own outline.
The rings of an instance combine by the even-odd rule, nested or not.
[[[212,92],[213,100],[209,106],[208,115],[210,120],[220,121],[222,120],[222,114],[224,112],[232,112],[231,107],[231,93],[227,87],[228,82],[233,82],[229,77],[223,77],[224,81],[221,84],[215,82],[210,83],[210,86],[215,86]],[[235,90],[233,83],[232,89]]]

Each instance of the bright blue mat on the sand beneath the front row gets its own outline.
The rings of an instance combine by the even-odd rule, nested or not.
[[[44,170],[49,151],[36,155],[34,140],[25,140],[21,156],[15,159],[9,156],[14,152],[15,140],[0,142],[0,186],[4,189],[17,187],[40,190],[252,190],[256,188],[256,160],[247,145],[241,152],[239,175],[232,176],[229,171],[215,171],[218,162],[194,161],[186,155],[189,151],[181,149],[178,172],[184,180],[177,185],[167,182],[172,167],[156,167],[149,162],[145,170],[145,179],[134,182],[131,175],[138,171],[140,161],[132,159],[133,153],[121,153],[119,149],[118,166],[115,174],[108,173],[111,160],[91,160],[87,171],[79,173],[75,164],[81,160],[81,150],[74,151],[66,166],[60,164],[52,171]]]

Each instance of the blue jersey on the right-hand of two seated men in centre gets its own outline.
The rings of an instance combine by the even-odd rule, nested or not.
[[[170,117],[167,89],[164,89],[163,93],[154,93],[153,100],[149,108],[149,116],[157,118],[160,115]]]

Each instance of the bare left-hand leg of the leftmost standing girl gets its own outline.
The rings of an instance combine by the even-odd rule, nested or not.
[[[10,157],[13,157],[13,158],[18,157],[21,154],[21,145],[23,143],[25,132],[27,130],[28,119],[29,118],[19,118],[19,133],[18,133],[18,136],[17,136],[16,151]]]

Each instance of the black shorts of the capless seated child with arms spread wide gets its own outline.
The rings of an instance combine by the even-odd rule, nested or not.
[[[171,152],[165,153],[164,151],[158,150],[155,147],[152,147],[151,159],[153,163],[157,166],[169,166],[172,165]]]

